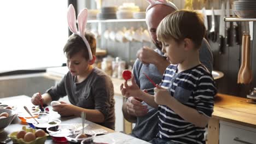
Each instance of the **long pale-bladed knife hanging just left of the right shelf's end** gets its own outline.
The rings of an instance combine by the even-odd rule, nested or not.
[[[222,3],[222,8],[220,9],[220,19],[219,19],[219,53],[224,52],[224,39],[225,39],[225,26],[224,26],[224,16],[225,16],[225,5]]]

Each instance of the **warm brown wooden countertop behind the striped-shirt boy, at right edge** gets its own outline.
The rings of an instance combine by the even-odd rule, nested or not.
[[[249,99],[219,93],[215,99],[213,118],[256,128],[256,104]]]

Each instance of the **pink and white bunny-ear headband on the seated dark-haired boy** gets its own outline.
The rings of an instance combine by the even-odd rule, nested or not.
[[[67,12],[68,27],[71,32],[79,35],[84,40],[84,43],[89,52],[89,59],[91,60],[92,59],[91,47],[88,43],[88,40],[84,37],[85,28],[86,28],[86,24],[87,24],[87,16],[88,16],[88,10],[86,8],[81,10],[80,13],[78,14],[78,16],[77,16],[78,28],[79,28],[79,31],[78,31],[77,25],[75,25],[75,21],[76,21],[75,10],[74,10],[73,5],[69,4],[68,12]]]

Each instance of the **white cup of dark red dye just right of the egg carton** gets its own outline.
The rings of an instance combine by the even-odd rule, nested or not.
[[[75,126],[71,124],[59,124],[53,127],[48,127],[46,129],[56,143],[67,142],[66,137],[73,135],[75,131]]]

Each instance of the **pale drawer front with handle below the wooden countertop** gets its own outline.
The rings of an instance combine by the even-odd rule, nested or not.
[[[219,144],[254,144],[256,129],[220,121]]]

